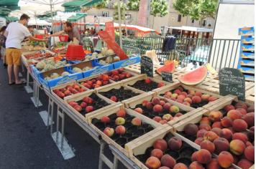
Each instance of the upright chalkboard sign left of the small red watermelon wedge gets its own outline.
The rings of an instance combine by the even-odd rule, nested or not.
[[[147,74],[147,77],[153,77],[153,62],[150,57],[142,57],[140,59],[141,74]]]

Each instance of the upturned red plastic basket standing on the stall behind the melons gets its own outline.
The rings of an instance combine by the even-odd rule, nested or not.
[[[85,59],[82,45],[68,45],[65,57],[67,60],[82,60]]]

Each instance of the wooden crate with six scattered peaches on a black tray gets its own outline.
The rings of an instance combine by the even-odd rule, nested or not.
[[[127,150],[124,149],[125,144],[132,141],[136,143],[147,132],[157,127],[162,128],[159,123],[124,108],[122,104],[88,116],[88,123],[96,132],[99,132],[106,143],[114,145],[127,157],[129,156]]]

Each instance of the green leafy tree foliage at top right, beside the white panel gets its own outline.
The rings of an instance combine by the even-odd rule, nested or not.
[[[215,19],[218,0],[173,0],[173,8],[183,16],[199,20],[200,27],[207,17]]]

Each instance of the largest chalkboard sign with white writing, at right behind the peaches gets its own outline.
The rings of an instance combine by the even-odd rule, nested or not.
[[[244,74],[239,69],[223,68],[219,71],[219,93],[222,96],[235,95],[245,101]]]

